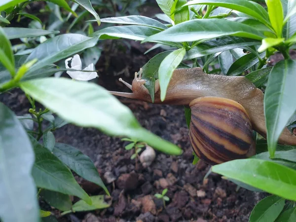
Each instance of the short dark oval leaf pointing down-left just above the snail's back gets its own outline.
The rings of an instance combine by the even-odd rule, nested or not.
[[[261,59],[264,58],[265,52],[259,55]],[[238,60],[236,60],[229,68],[227,75],[240,75],[246,70],[259,63],[259,58],[253,53],[248,53]]]

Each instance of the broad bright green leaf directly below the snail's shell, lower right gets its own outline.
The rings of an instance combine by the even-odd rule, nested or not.
[[[252,158],[215,165],[212,171],[274,195],[296,200],[296,170],[286,166]]]

